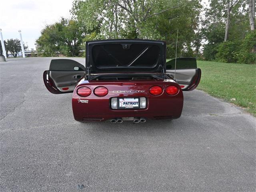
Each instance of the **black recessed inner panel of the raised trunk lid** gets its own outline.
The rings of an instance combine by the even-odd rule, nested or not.
[[[95,45],[92,57],[98,68],[146,66],[154,67],[160,59],[160,48],[146,44]]]

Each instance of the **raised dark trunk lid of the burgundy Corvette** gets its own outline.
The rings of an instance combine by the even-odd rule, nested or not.
[[[140,39],[86,42],[86,68],[90,74],[165,72],[166,42]]]

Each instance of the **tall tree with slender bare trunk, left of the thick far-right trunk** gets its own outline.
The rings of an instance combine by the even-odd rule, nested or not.
[[[209,8],[206,8],[205,11],[206,17],[202,23],[202,34],[206,40],[204,58],[206,60],[216,60],[216,54],[226,48],[226,53],[230,50],[234,51],[232,60],[237,60],[235,53],[239,51],[239,47],[234,46],[234,48],[237,48],[237,50],[234,50],[228,46],[242,43],[241,41],[246,36],[249,26],[246,2],[242,0],[211,0]],[[222,45],[223,42],[228,41],[234,43],[224,43]],[[223,54],[218,54],[218,58],[222,58],[222,61],[224,60],[223,56]]]

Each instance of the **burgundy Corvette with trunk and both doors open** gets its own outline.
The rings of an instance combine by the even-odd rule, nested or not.
[[[200,77],[195,58],[166,62],[166,42],[130,39],[86,42],[86,66],[54,59],[43,75],[51,93],[73,93],[75,120],[112,123],[179,118]]]

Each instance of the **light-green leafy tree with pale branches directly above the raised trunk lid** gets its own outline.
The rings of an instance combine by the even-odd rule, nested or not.
[[[143,38],[142,30],[149,18],[182,6],[176,0],[74,0],[72,14],[86,26],[100,26],[108,38],[118,38],[122,31],[136,30]]]

